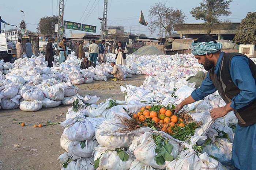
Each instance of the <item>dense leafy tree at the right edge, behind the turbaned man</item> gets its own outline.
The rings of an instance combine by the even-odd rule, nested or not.
[[[256,44],[256,12],[248,12],[242,19],[234,41],[238,44]]]

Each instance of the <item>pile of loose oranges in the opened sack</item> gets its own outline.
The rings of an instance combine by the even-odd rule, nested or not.
[[[159,111],[151,111],[151,106],[146,106],[140,109],[133,117],[143,123],[147,119],[154,121],[155,125],[162,131],[172,134],[172,129],[179,126],[185,127],[182,119],[173,115],[172,111],[162,107]]]

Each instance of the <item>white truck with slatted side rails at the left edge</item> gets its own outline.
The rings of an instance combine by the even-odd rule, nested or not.
[[[18,39],[21,39],[21,36],[17,26],[9,25],[15,27],[15,30],[6,32],[6,25],[4,24],[4,29],[0,30],[0,60],[4,59],[5,62],[9,62],[13,57],[16,57],[16,43]]]

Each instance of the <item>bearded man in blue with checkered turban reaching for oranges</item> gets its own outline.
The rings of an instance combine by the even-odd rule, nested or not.
[[[256,170],[256,65],[244,54],[221,52],[221,47],[210,36],[191,44],[208,73],[200,88],[176,106],[176,112],[218,90],[227,104],[212,109],[211,117],[215,120],[234,111],[238,118],[231,162],[235,170]]]

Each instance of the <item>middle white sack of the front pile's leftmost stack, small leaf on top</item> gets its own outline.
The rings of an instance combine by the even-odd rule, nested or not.
[[[84,146],[82,145],[84,142]],[[94,147],[98,146],[97,140],[86,140],[86,141],[71,141],[64,138],[61,135],[60,146],[72,155],[78,157],[89,158],[93,156]],[[82,148],[83,146],[83,148]]]

